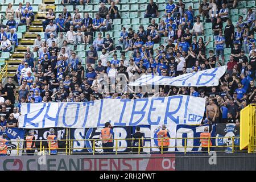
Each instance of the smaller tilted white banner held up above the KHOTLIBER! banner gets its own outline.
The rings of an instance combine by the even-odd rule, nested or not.
[[[143,75],[129,86],[172,85],[172,86],[217,86],[218,79],[226,72],[226,66],[205,71],[187,73],[177,77]]]

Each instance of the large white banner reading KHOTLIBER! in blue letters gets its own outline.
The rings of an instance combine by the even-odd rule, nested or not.
[[[104,127],[105,122],[111,122],[113,126],[199,124],[204,109],[205,98],[183,95],[22,104],[19,127],[92,128]]]

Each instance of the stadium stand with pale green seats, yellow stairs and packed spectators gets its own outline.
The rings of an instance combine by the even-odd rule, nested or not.
[[[207,98],[202,124],[239,123],[240,110],[256,103],[255,1],[72,3],[3,0],[0,78],[10,77],[9,86],[0,85],[3,102],[10,100],[20,109],[21,102],[184,94]],[[176,77],[221,65],[228,70],[213,87],[162,85],[159,92],[135,94],[129,89],[98,93],[95,88],[98,73],[124,73],[133,81],[135,74]],[[1,110],[6,104],[0,104]],[[8,120],[10,114],[2,116]]]

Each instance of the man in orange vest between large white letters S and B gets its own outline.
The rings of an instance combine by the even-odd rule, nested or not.
[[[105,123],[104,129],[101,130],[100,139],[102,140],[103,152],[111,154],[113,152],[113,129],[110,122]],[[108,147],[108,148],[105,148]],[[111,148],[110,148],[111,147]]]

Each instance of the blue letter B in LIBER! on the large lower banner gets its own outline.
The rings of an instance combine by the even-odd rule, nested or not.
[[[135,107],[136,107],[137,102],[145,102],[145,104],[142,107],[141,111],[135,111]],[[146,111],[144,111],[144,110],[146,109],[147,104],[148,104],[148,99],[144,99],[143,98],[143,99],[134,100],[133,111],[131,112],[131,119],[130,119],[129,126],[136,126],[136,125],[138,125],[139,122],[142,121],[142,119],[145,117],[145,114],[146,114]],[[138,121],[133,123],[134,115],[141,115],[141,118],[139,118]]]

